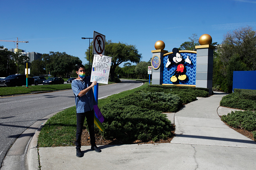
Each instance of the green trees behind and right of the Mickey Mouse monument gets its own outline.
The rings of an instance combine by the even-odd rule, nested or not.
[[[193,50],[199,45],[197,34],[189,39],[180,50]],[[211,45],[217,48],[213,54],[213,90],[232,93],[233,71],[256,70],[256,31],[250,26],[240,27],[228,31],[221,44]]]

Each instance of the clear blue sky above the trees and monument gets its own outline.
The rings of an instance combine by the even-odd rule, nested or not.
[[[141,61],[149,61],[158,40],[172,51],[193,33],[222,43],[228,31],[255,30],[256,0],[0,0],[0,16],[0,39],[29,41],[19,43],[26,52],[66,52],[85,64],[89,40],[81,37],[95,30],[106,40],[135,45]]]

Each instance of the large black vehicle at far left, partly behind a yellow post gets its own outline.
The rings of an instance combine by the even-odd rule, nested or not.
[[[34,84],[34,78],[28,77],[28,85]],[[15,87],[27,85],[26,75],[10,75],[5,79],[0,79],[0,86]]]

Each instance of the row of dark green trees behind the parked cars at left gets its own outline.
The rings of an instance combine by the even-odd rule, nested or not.
[[[0,77],[12,74],[25,74],[25,62],[28,56],[21,53],[9,52],[0,46]],[[41,60],[31,62],[30,76],[43,76],[50,73],[51,76],[67,77],[70,74],[76,76],[75,65],[81,64],[78,57],[66,54],[66,52],[50,52],[43,54]]]

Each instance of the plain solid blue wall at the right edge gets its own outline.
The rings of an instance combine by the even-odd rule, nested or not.
[[[234,71],[233,91],[234,88],[256,90],[256,71]]]

